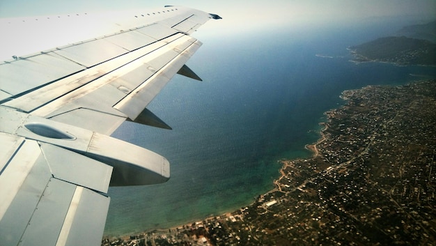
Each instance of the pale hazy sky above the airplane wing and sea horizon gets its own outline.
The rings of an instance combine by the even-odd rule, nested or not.
[[[181,5],[221,15],[224,24],[325,22],[372,17],[435,17],[435,0],[0,0],[0,17],[56,15]]]

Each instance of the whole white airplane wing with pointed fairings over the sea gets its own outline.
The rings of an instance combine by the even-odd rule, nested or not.
[[[169,179],[165,157],[109,135],[125,120],[169,128],[146,106],[176,73],[199,79],[189,34],[211,18],[166,6],[0,22],[1,245],[100,245],[109,185]]]

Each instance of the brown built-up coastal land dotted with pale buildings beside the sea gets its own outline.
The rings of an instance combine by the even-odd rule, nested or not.
[[[436,81],[344,91],[308,160],[233,213],[102,245],[435,245]]]

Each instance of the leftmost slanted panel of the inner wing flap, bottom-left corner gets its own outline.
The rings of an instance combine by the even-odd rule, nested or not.
[[[26,140],[0,176],[0,242],[18,245],[51,173],[36,141]]]

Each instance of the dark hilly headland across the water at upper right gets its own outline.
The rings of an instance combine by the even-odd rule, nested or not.
[[[397,33],[407,36],[377,38],[368,43],[351,46],[348,49],[355,56],[352,61],[378,61],[399,66],[436,66],[436,44],[432,42],[436,36],[435,26],[436,22],[406,26]]]

